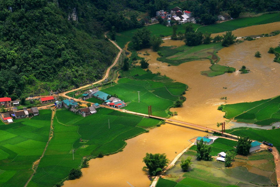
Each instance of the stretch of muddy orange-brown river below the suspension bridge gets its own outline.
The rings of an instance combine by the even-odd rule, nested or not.
[[[149,133],[127,140],[122,152],[90,160],[90,167],[82,169],[83,176],[80,179],[68,180],[64,184],[66,187],[124,187],[128,181],[133,186],[147,187],[150,185],[148,174],[142,171],[145,165],[142,158],[147,152],[166,153],[168,159],[173,160],[184,147],[190,145],[189,139],[206,134],[199,129],[166,123]]]

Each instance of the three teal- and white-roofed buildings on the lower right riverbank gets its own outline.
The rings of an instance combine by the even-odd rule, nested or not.
[[[194,143],[194,145],[197,145],[198,142],[200,142],[201,139],[203,139],[203,143],[207,144],[207,145],[211,145],[212,143],[214,143],[214,141],[217,139],[218,137],[197,137],[196,141]],[[258,142],[258,141],[253,141],[251,143],[251,148],[249,152],[254,152],[260,149],[260,145],[262,143]],[[216,156],[216,155],[215,155]],[[217,155],[217,161],[222,161],[225,162],[225,158],[226,158],[226,153],[225,152],[220,152]]]

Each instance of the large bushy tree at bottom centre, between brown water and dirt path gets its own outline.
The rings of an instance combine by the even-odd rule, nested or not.
[[[146,156],[143,158],[143,162],[146,164],[143,168],[148,169],[150,175],[155,176],[158,172],[161,172],[165,166],[167,166],[169,159],[166,158],[165,153],[146,153]]]

